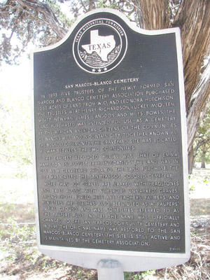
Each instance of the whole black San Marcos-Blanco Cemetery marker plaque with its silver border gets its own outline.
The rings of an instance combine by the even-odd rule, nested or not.
[[[125,270],[142,256],[155,262],[145,269],[187,260],[179,29],[145,31],[97,10],[35,51],[33,67],[41,250],[87,267],[114,256]]]

